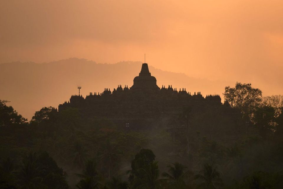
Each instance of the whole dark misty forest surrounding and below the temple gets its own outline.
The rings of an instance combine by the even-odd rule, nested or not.
[[[28,122],[1,100],[0,188],[282,188],[283,96],[241,83],[223,96],[140,130],[76,108]]]

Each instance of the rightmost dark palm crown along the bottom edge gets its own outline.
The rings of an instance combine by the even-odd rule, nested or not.
[[[204,165],[204,169],[200,171],[202,174],[195,175],[195,180],[199,180],[200,188],[215,189],[221,188],[222,180],[220,173],[209,164]]]

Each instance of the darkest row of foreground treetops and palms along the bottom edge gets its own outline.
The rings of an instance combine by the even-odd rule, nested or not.
[[[158,162],[152,150],[141,149],[131,162],[131,170],[127,171],[128,181],[121,175],[106,178],[101,174],[94,159],[85,162],[82,173],[76,174],[80,181],[76,184],[80,189],[129,189],[129,188],[282,188],[283,173],[254,172],[241,182],[224,186],[222,173],[215,165],[204,164],[203,169],[194,175],[188,167],[175,162],[167,166],[167,172],[160,173]],[[66,182],[66,173],[59,168],[47,152],[29,152],[23,157],[21,165],[9,157],[1,162],[0,188],[70,188]]]

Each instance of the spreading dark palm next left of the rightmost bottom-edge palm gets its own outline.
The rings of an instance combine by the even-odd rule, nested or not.
[[[173,166],[169,165],[169,171],[162,173],[162,176],[169,181],[173,188],[185,188],[185,179],[191,174],[187,167],[176,162]]]

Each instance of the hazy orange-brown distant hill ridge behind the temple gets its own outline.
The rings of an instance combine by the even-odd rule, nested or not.
[[[15,110],[30,119],[35,111],[44,106],[58,107],[72,94],[103,92],[104,88],[117,88],[118,84],[131,87],[140,72],[142,62],[119,62],[98,64],[86,59],[70,58],[49,63],[13,62],[0,64],[0,99],[11,101]],[[181,73],[156,69],[149,64],[149,71],[162,87],[186,88],[188,92],[220,94],[227,85],[235,82],[197,79]]]

